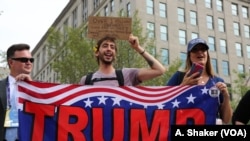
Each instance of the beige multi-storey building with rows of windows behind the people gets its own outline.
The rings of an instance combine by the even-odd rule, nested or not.
[[[200,37],[209,44],[214,71],[226,83],[236,79],[233,70],[250,71],[250,0],[70,0],[52,26],[63,33],[65,25],[87,24],[88,16],[121,12],[131,17],[136,10],[166,67],[176,58],[185,60],[188,41]],[[48,59],[47,36],[32,51],[32,77],[59,82]]]

